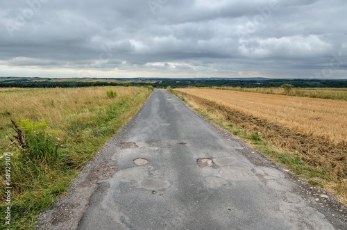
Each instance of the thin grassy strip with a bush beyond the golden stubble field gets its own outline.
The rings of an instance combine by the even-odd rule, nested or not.
[[[347,88],[293,88],[293,85],[286,83],[280,88],[214,87],[214,89],[347,101]]]

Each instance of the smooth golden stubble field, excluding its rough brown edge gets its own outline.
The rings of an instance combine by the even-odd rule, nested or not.
[[[311,99],[254,92],[210,89],[176,89],[247,115],[260,117],[307,134],[347,140],[347,101]]]

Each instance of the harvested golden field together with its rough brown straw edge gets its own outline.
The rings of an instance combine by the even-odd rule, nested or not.
[[[214,114],[217,120],[251,133],[253,140],[268,142],[289,158],[303,161],[312,173],[299,172],[294,163],[296,174],[346,199],[347,101],[198,88],[174,92],[199,112]],[[262,150],[271,155],[269,149]],[[288,165],[284,156],[276,157]]]

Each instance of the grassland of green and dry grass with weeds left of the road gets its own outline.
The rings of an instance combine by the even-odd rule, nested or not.
[[[71,180],[137,113],[151,87],[0,90],[0,175],[11,164],[11,227],[34,229],[37,215],[65,195]],[[0,212],[6,211],[1,195]],[[0,215],[1,229],[5,215]]]

